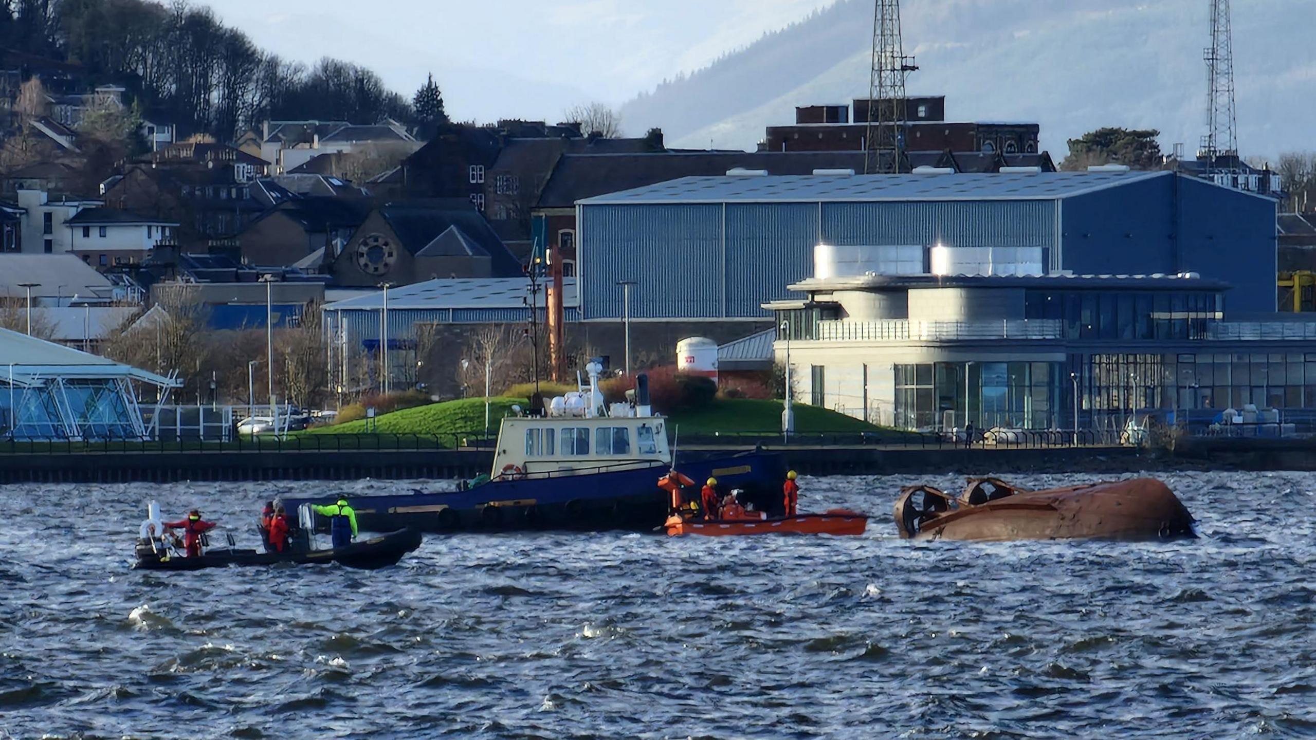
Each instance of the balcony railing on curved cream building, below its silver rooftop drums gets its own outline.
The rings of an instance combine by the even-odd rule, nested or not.
[[[819,321],[820,341],[965,341],[965,340],[1058,340],[1061,321],[1053,319],[999,321]]]

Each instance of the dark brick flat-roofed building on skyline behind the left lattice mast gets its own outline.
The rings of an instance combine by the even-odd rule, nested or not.
[[[891,101],[879,101],[891,108]],[[795,124],[767,126],[763,151],[863,151],[867,144],[869,99],[855,99],[853,120],[845,105],[795,109]],[[950,122],[945,96],[916,96],[905,101],[908,151],[987,151],[1036,154],[1040,126],[1032,122]]]

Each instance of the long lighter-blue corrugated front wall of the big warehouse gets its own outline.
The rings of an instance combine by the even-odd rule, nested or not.
[[[813,274],[813,246],[1055,246],[1050,200],[582,205],[582,316],[762,317]],[[724,265],[725,262],[725,265]]]

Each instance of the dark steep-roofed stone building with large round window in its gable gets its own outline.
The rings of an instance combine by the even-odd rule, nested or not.
[[[484,216],[465,199],[380,205],[346,246],[326,255],[337,286],[411,284],[433,278],[500,278],[522,273]]]

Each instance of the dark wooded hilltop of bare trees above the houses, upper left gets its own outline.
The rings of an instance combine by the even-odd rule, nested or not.
[[[76,63],[86,82],[125,84],[143,108],[220,141],[265,119],[411,117],[372,71],[329,58],[311,68],[286,62],[197,4],[0,0],[0,47]]]

